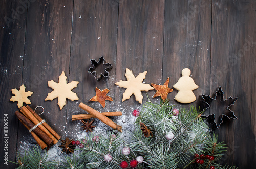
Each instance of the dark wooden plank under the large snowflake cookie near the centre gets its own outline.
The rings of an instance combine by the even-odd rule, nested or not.
[[[129,68],[135,76],[147,71],[143,83],[161,84],[163,28],[164,1],[121,1],[118,18],[116,82],[127,80],[124,76],[125,69]],[[129,115],[141,104],[135,100],[134,95],[129,100],[121,102],[125,90],[126,88],[115,88],[115,104],[117,107],[122,107],[125,114]],[[147,93],[149,98],[152,98],[155,90]],[[142,91],[142,95],[143,105],[147,102],[146,92]]]

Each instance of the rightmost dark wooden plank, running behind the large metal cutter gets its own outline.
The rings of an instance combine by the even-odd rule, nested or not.
[[[225,161],[253,168],[255,159],[255,1],[212,2],[211,93],[221,85],[238,120],[225,119],[216,133],[228,144]],[[214,110],[211,110],[214,111]]]

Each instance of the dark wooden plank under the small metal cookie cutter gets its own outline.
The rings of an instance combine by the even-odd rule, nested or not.
[[[99,102],[89,101],[89,99],[96,95],[95,87],[97,87],[101,90],[108,88],[110,92],[107,95],[115,100],[113,96],[117,19],[118,3],[115,3],[115,1],[90,0],[86,3],[80,0],[74,1],[70,79],[79,81],[77,88],[74,90],[78,93],[79,101],[68,102],[67,135],[72,138],[77,137],[78,133],[82,133],[82,128],[79,125],[79,121],[71,121],[71,116],[87,113],[78,107],[80,102],[99,112],[110,112],[114,110],[114,104],[111,101],[106,101],[106,106],[103,108]],[[90,59],[95,59],[98,62],[101,56],[104,57],[105,63],[113,64],[113,66],[109,72],[110,77],[102,77],[96,81],[94,75],[87,71],[93,66]],[[98,74],[101,72],[102,70],[99,70]],[[99,123],[99,120],[95,120],[94,125],[98,126]],[[102,129],[99,130],[104,130],[105,132],[110,129],[103,124]],[[78,138],[84,133],[78,134]]]

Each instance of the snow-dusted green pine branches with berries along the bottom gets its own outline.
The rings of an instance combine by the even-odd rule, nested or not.
[[[148,102],[135,121],[129,144],[121,139],[122,133],[91,133],[81,141],[83,148],[77,157],[68,156],[61,164],[46,162],[47,153],[37,147],[18,157],[18,168],[236,168],[218,163],[227,147],[215,134],[210,136],[202,112],[191,106],[176,113],[168,101]],[[153,136],[144,133],[145,127],[141,130],[141,123]]]

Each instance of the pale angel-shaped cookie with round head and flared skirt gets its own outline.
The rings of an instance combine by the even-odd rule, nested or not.
[[[175,96],[175,100],[180,103],[191,103],[194,102],[197,98],[193,93],[193,90],[198,88],[198,85],[195,84],[194,80],[189,77],[191,71],[188,68],[185,68],[181,71],[182,77],[174,84],[174,88],[179,90]]]

